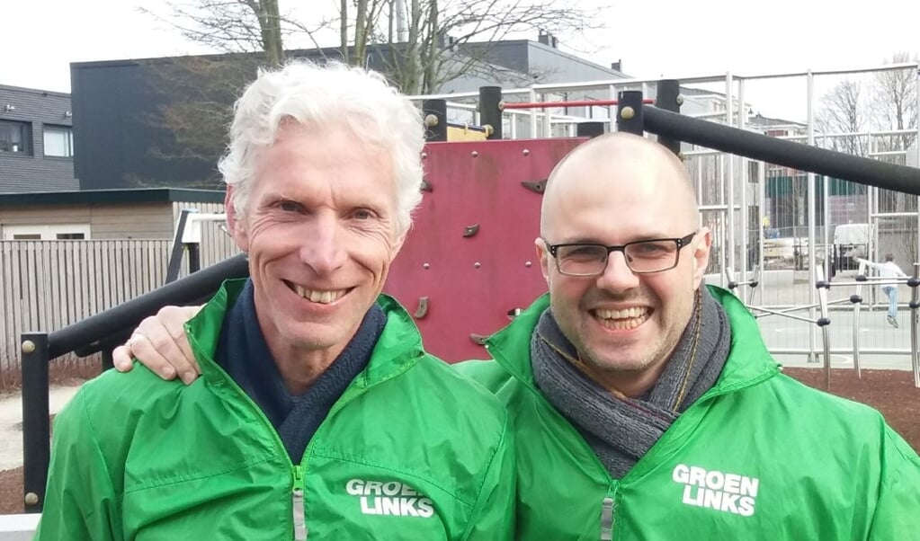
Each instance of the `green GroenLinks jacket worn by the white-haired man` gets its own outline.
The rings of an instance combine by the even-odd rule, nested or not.
[[[202,371],[194,384],[135,366],[100,375],[63,409],[36,539],[512,537],[507,414],[423,351],[407,312],[383,295],[370,363],[293,465],[213,362],[241,286],[225,283],[187,325]]]

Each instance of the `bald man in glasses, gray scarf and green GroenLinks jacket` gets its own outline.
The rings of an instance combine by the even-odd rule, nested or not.
[[[598,137],[550,175],[549,294],[493,361],[455,365],[512,414],[517,537],[917,538],[920,458],[877,411],[780,373],[744,305],[702,286],[710,245],[683,164],[647,139]]]

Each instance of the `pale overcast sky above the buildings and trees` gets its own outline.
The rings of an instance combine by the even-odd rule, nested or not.
[[[560,0],[572,2],[574,0]],[[658,2],[627,13],[637,0],[579,0],[609,5],[606,29],[562,37],[563,49],[628,75],[683,77],[831,70],[880,65],[892,52],[920,52],[920,1],[696,0]],[[137,11],[160,0],[29,0],[3,3],[0,85],[70,91],[71,62],[203,52],[173,29]],[[291,6],[338,4],[282,0]],[[673,6],[670,12],[661,6]],[[312,9],[312,7],[311,7]],[[535,39],[535,36],[532,37]],[[827,77],[822,91],[832,86]],[[801,117],[804,79],[749,83],[748,101],[768,116]],[[780,95],[783,97],[780,99]]]

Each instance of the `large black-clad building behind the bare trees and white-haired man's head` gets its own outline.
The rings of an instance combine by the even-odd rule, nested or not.
[[[477,64],[445,83],[445,93],[626,76],[560,51],[548,34],[539,41],[466,43],[458,48],[460,54],[465,50]],[[385,55],[391,53],[369,48],[368,67],[385,73]],[[291,51],[287,56],[336,59],[339,51]],[[71,64],[80,188],[220,188],[216,161],[224,150],[230,106],[258,66],[258,54]]]

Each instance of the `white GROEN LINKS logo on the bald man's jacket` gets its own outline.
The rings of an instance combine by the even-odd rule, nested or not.
[[[753,515],[760,479],[678,464],[673,481],[684,485],[684,503],[716,511]]]

